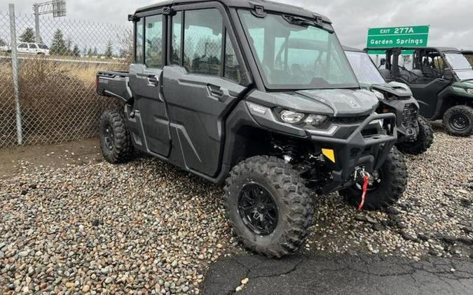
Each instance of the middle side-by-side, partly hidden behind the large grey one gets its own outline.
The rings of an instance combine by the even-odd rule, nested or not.
[[[432,127],[419,115],[419,105],[407,85],[386,82],[369,55],[363,50],[343,46],[359,84],[378,96],[376,113],[395,113],[397,148],[408,154],[422,154],[432,145]],[[388,126],[385,125],[386,128]]]

